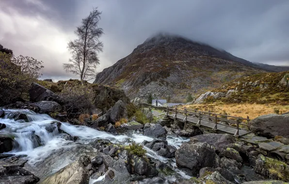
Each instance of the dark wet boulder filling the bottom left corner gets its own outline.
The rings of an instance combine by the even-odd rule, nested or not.
[[[38,181],[28,170],[0,161],[0,184],[36,184]]]

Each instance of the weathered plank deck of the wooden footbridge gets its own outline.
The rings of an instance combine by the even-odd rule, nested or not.
[[[170,119],[174,119],[175,114],[168,114],[168,117]],[[177,114],[177,120],[183,122],[183,120],[185,119],[185,115],[182,114]],[[193,125],[196,125],[198,123],[199,119],[195,118],[195,117],[187,117],[187,122],[189,123],[193,123]],[[201,128],[206,128],[206,129],[213,129],[215,127],[215,123],[211,122],[209,120],[205,120],[205,119],[201,119]],[[236,133],[236,127],[234,126],[228,126],[228,125],[224,125],[221,123],[217,124],[217,130],[215,130],[217,133],[227,133],[227,134],[232,134],[234,135]],[[243,130],[243,129],[239,129],[239,136],[244,136],[246,134],[249,134],[249,131]]]

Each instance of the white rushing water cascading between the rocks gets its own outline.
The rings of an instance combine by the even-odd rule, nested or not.
[[[71,125],[69,123],[62,123],[61,130],[70,134],[71,136],[77,136],[79,139],[76,142],[65,140],[64,134],[58,132],[56,121],[49,117],[47,114],[36,114],[31,110],[23,109],[4,109],[5,117],[0,119],[0,123],[5,123],[6,128],[0,131],[0,134],[9,135],[14,138],[14,149],[9,152],[16,155],[25,155],[28,159],[29,170],[33,170],[37,173],[35,175],[44,177],[50,173],[65,167],[66,165],[75,161],[81,154],[88,154],[93,151],[93,148],[89,147],[89,142],[94,141],[96,138],[106,138],[112,143],[128,144],[128,139],[138,143],[142,143],[144,140],[151,141],[153,138],[146,137],[140,133],[133,133],[130,135],[113,136],[112,134],[98,131],[88,126]],[[26,114],[29,122],[23,120],[15,121],[12,117],[21,112]],[[188,141],[184,138],[168,137],[168,144],[179,146],[184,141]],[[179,176],[184,178],[190,178],[183,171],[177,169],[176,161],[174,159],[168,159],[148,149],[147,155],[154,159],[159,159],[161,162],[170,162],[172,169],[174,169]],[[56,158],[55,158],[56,157]],[[49,164],[47,162],[49,161]],[[47,166],[45,171],[39,170],[40,165]],[[33,173],[32,171],[32,173]],[[97,179],[97,181],[103,179],[104,176]],[[174,176],[168,177],[168,180],[174,181]],[[91,180],[90,183],[94,183],[95,180]]]

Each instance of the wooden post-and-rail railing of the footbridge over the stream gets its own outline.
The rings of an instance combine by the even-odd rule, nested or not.
[[[218,124],[221,124],[220,122],[222,122],[223,126],[228,126],[228,127],[234,127],[236,128],[236,133],[235,136],[238,137],[239,136],[239,130],[240,130],[240,125],[243,127],[246,127],[246,130],[249,132],[250,128],[249,128],[249,116],[247,116],[247,118],[242,118],[242,117],[236,117],[236,116],[229,116],[226,114],[218,114],[218,113],[213,113],[210,111],[201,111],[201,110],[197,110],[197,109],[191,109],[191,108],[186,108],[186,107],[175,107],[175,108],[171,108],[171,107],[167,107],[167,115],[170,114],[174,114],[174,118],[177,119],[177,114],[181,114],[184,115],[184,122],[187,121],[188,117],[193,117],[193,118],[198,118],[199,121],[197,123],[198,126],[201,125],[201,121],[207,121],[207,122],[214,122],[215,126],[213,128],[213,130],[217,130],[218,129]],[[208,120],[206,120],[206,118]]]

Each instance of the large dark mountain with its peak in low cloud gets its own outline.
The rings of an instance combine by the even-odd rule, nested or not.
[[[117,85],[130,98],[185,97],[237,77],[267,72],[225,50],[181,36],[158,34],[97,74],[94,83]]]

